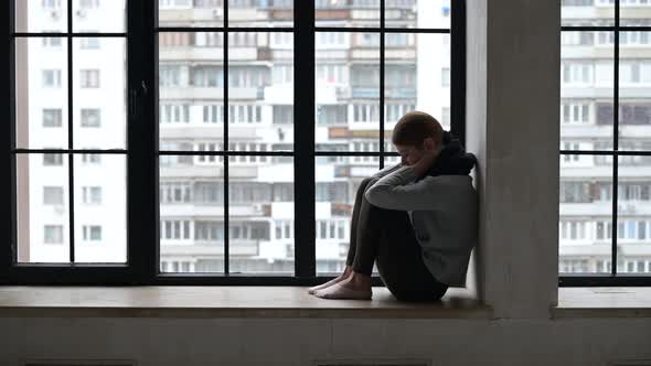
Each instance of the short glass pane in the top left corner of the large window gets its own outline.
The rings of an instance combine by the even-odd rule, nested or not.
[[[67,30],[67,0],[18,0],[14,4],[17,32]]]

